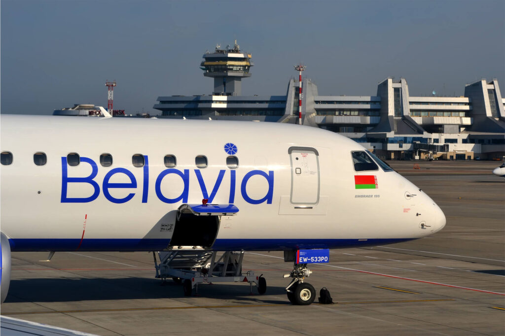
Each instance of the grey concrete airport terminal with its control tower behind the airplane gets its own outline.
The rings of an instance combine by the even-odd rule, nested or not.
[[[250,120],[296,123],[298,82],[285,95],[243,96],[251,54],[233,48],[203,55],[204,76],[214,78],[210,95],[160,96],[161,118]],[[505,99],[498,81],[465,86],[461,97],[415,97],[403,78],[386,78],[376,96],[320,96],[310,79],[302,82],[302,120],[306,126],[338,132],[385,159],[503,159]]]

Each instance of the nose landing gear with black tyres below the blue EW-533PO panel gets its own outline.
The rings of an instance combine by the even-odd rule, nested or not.
[[[293,270],[289,274],[284,274],[284,277],[292,277],[292,281],[286,287],[286,294],[289,302],[293,305],[307,306],[314,302],[316,298],[316,290],[309,283],[304,283],[304,278],[312,274],[312,271],[307,268],[307,264],[293,265]]]

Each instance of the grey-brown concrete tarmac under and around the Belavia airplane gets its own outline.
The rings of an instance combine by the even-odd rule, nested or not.
[[[282,252],[247,252],[267,292],[212,284],[185,297],[154,278],[153,255],[12,254],[2,315],[99,335],[504,335],[505,179],[498,161],[388,161],[442,208],[447,225],[411,242],[332,250],[307,282],[335,304],[294,306]],[[418,164],[419,169],[414,169]],[[317,300],[316,300],[317,301]]]

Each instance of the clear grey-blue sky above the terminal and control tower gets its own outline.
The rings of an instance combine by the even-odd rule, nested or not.
[[[284,95],[293,65],[320,95],[375,95],[386,77],[410,94],[505,92],[505,1],[0,2],[0,110],[52,114],[74,103],[153,109],[159,96],[210,94],[199,69],[217,43],[252,53],[243,95]]]

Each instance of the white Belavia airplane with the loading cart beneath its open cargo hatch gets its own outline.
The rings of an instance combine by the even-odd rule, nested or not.
[[[105,114],[104,114],[105,115]],[[309,305],[329,249],[426,237],[438,205],[359,143],[281,123],[1,117],[2,302],[11,251],[153,251],[157,277],[248,282],[244,251],[284,251]],[[221,256],[219,254],[222,253]],[[158,259],[157,259],[158,258]],[[159,261],[157,261],[159,260]]]

